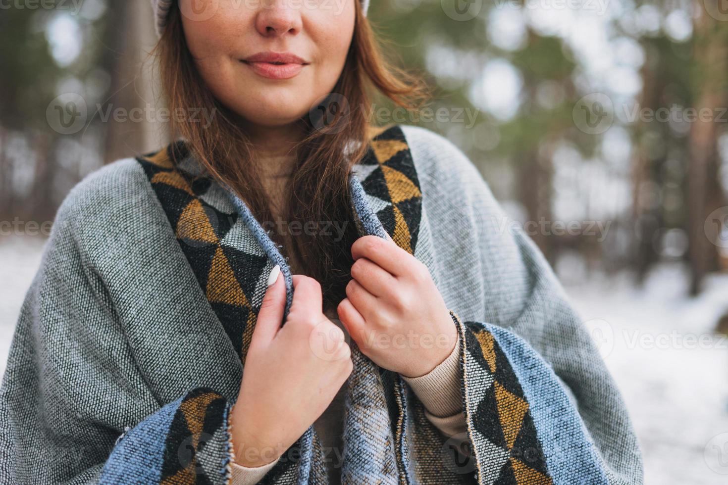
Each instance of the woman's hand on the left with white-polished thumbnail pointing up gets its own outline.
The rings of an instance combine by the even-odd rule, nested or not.
[[[324,315],[314,278],[293,275],[296,291],[280,325],[285,281],[278,273],[258,313],[230,417],[235,461],[245,467],[280,457],[323,414],[353,368],[344,332]]]

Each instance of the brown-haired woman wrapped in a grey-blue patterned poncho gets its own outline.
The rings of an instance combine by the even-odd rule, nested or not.
[[[366,1],[153,5],[170,108],[215,116],[63,201],[2,483],[642,482],[619,391],[470,160],[368,126],[365,85],[422,90]]]

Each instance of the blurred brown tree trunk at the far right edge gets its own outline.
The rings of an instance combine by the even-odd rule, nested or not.
[[[705,111],[709,119],[697,116],[692,122],[689,140],[690,163],[688,169],[689,201],[689,254],[690,294],[700,292],[705,273],[717,269],[717,246],[705,234],[708,215],[725,205],[723,189],[718,179],[719,126],[716,116],[725,117],[721,107],[726,97],[726,70],[728,68],[727,28],[705,12],[703,1],[696,1],[700,15],[695,18],[695,108],[700,115]],[[724,109],[724,108],[723,108]]]

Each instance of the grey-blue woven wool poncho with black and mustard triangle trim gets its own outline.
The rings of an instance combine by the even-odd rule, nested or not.
[[[641,484],[598,350],[470,160],[419,127],[369,143],[355,223],[430,269],[462,341],[467,436],[438,433],[401,376],[352,343],[341,483]],[[275,264],[293,289],[245,204],[197,167],[174,143],[63,201],[0,388],[1,483],[230,483],[229,409]],[[260,483],[327,483],[313,427]]]

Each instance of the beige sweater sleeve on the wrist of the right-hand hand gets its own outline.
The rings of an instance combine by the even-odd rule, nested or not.
[[[450,355],[435,369],[419,377],[404,377],[424,405],[424,415],[447,438],[455,441],[462,454],[469,454],[467,424],[462,412],[460,389],[460,350],[458,340]]]

